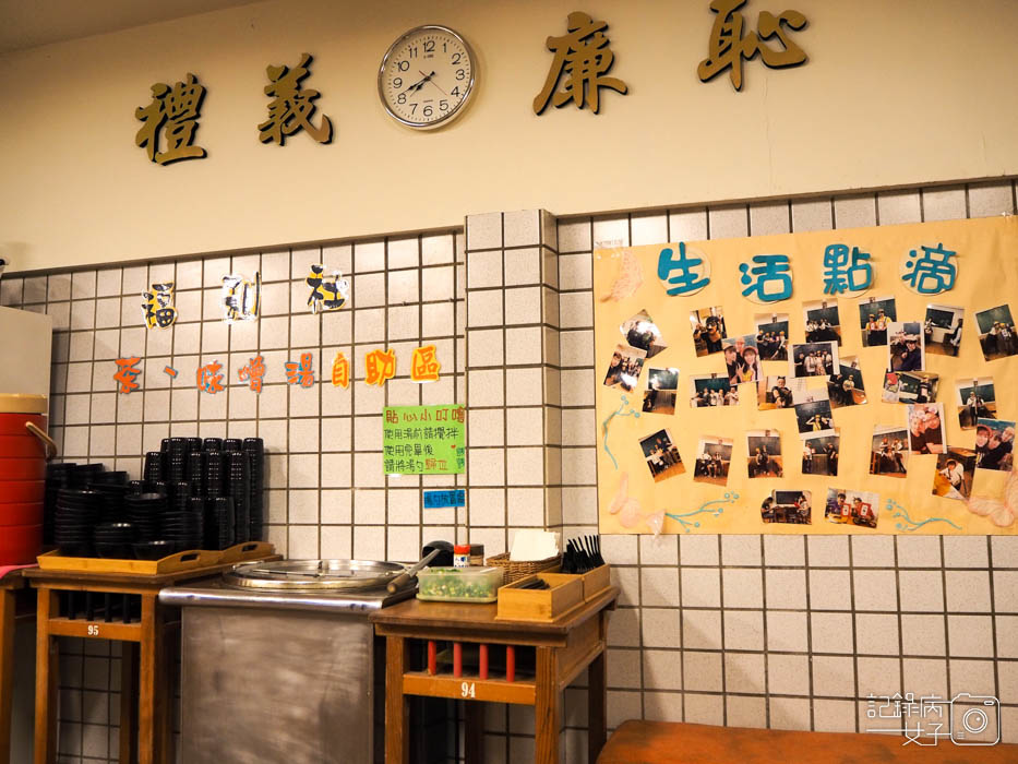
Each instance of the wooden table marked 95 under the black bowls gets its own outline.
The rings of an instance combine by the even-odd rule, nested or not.
[[[280,559],[272,556],[270,560]],[[172,665],[179,653],[180,618],[177,608],[159,605],[159,589],[183,581],[205,578],[229,570],[236,562],[206,565],[159,575],[56,571],[24,571],[38,590],[35,675],[35,761],[57,759],[57,692],[60,655],[58,636],[117,640],[122,643],[120,680],[120,761],[139,764],[173,762]],[[106,594],[141,598],[141,618],[86,620],[61,616],[58,593]],[[135,600],[136,601],[136,600]],[[136,730],[136,731],[135,731]]]

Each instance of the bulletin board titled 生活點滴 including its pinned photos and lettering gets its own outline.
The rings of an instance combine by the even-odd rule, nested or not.
[[[1008,445],[1018,418],[1014,216],[609,243],[594,252],[601,533],[1016,533],[1018,475]],[[777,262],[768,255],[787,256],[790,296],[783,276],[768,271]],[[697,260],[705,262],[691,265]],[[756,273],[770,283],[762,285]],[[804,306],[812,308],[809,321]],[[723,322],[707,326],[716,308]],[[871,312],[884,319],[883,337]],[[794,356],[775,360],[782,327],[786,355],[809,330],[811,338],[836,343],[836,358],[825,357],[830,346],[821,342],[807,345],[798,365]],[[733,354],[717,350],[719,329],[722,345],[746,339],[735,353],[742,367],[729,367]],[[745,350],[753,338],[760,341],[755,359]],[[846,359],[854,363],[842,368]],[[797,379],[807,365],[814,374]],[[889,366],[903,371],[888,378]],[[741,371],[731,378],[733,368]],[[741,381],[754,373],[765,378],[763,390]],[[782,374],[788,396],[771,384]],[[961,396],[973,390],[978,401],[966,408]],[[828,413],[823,402],[833,396]],[[773,405],[777,399],[786,405]],[[815,419],[807,416],[814,409]],[[902,430],[903,450],[895,445]]]

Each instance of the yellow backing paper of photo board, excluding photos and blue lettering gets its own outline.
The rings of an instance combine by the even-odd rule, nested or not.
[[[1014,500],[1018,488],[1010,473],[974,469],[970,500],[934,496],[935,454],[908,456],[907,476],[872,475],[871,454],[874,429],[881,426],[908,428],[907,407],[882,401],[884,372],[888,362],[886,346],[864,347],[860,327],[860,303],[871,298],[893,296],[899,321],[922,324],[926,308],[963,307],[961,344],[957,357],[925,354],[925,370],[939,375],[935,401],[944,404],[947,446],[974,450],[975,430],[962,429],[956,405],[956,381],[993,378],[998,420],[1018,419],[1018,355],[986,360],[981,345],[977,312],[1009,305],[1018,319],[1018,218],[1013,216],[975,220],[953,220],[876,228],[841,229],[809,234],[752,237],[685,242],[690,252],[706,253],[710,263],[709,284],[694,295],[669,296],[658,278],[658,259],[662,248],[674,253],[679,244],[600,249],[594,253],[595,347],[597,375],[597,459],[598,504],[601,533],[792,533],[792,534],[1013,534],[1013,518],[1018,506],[1006,503],[1010,487]],[[862,296],[851,293],[837,297],[825,295],[825,249],[834,243],[859,248],[870,254],[872,285]],[[911,290],[901,274],[902,258],[922,246],[957,253],[954,288],[934,296]],[[787,254],[793,277],[790,299],[760,305],[743,297],[740,263],[750,263],[758,254]],[[675,255],[673,255],[675,256]],[[638,263],[639,273],[633,263]],[[634,285],[638,286],[633,290]],[[837,305],[840,315],[840,356],[855,357],[862,372],[866,403],[835,408],[834,427],[840,433],[840,459],[837,477],[803,474],[803,444],[792,409],[758,410],[755,383],[739,385],[739,403],[730,406],[691,407],[691,380],[694,375],[716,373],[727,377],[722,354],[697,356],[691,311],[720,306],[728,337],[755,335],[754,317],[787,313],[790,343],[805,339],[803,306],[826,301]],[[660,341],[643,360],[635,390],[603,384],[613,353],[627,345],[620,326],[646,311],[661,332]],[[949,322],[949,311],[935,314]],[[946,317],[946,318],[945,318]],[[937,336],[943,337],[943,332]],[[1013,339],[1018,344],[1018,337]],[[659,349],[659,345],[664,345]],[[640,356],[638,350],[633,357]],[[647,355],[647,354],[644,354]],[[786,374],[787,361],[763,360],[766,377]],[[661,411],[643,411],[644,391],[650,369],[679,369],[674,413],[668,401]],[[657,372],[664,373],[664,372]],[[667,373],[661,379],[667,379]],[[791,379],[789,379],[791,382]],[[806,380],[807,390],[826,389],[824,377]],[[667,430],[678,447],[682,468],[660,451],[645,455],[640,440]],[[746,433],[779,435],[782,451],[781,477],[775,469],[760,470],[765,477],[748,477]],[[700,439],[712,435],[731,441],[731,461],[727,485],[695,481],[694,470]],[[755,441],[756,443],[763,441]],[[652,447],[652,446],[651,446]],[[908,445],[906,444],[906,447]],[[655,481],[649,462],[660,474],[672,475]],[[1010,486],[1009,486],[1010,481]],[[717,481],[720,482],[720,481]],[[871,492],[878,497],[873,510],[876,527],[864,523],[836,524],[825,520],[828,488]],[[760,505],[773,491],[809,491],[812,494],[812,522],[765,523]],[[876,498],[875,497],[875,498]],[[979,498],[989,498],[989,506]],[[969,503],[983,508],[983,514]],[[987,514],[989,512],[989,514]],[[662,514],[663,513],[663,514]],[[929,521],[929,522],[927,522]],[[996,522],[995,522],[996,521]]]

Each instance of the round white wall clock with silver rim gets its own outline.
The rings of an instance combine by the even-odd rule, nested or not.
[[[379,96],[403,124],[435,128],[463,112],[474,75],[474,51],[463,37],[444,26],[419,26],[382,59]]]

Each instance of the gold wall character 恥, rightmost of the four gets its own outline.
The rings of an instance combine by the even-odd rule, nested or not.
[[[731,69],[732,86],[742,89],[743,59],[748,61],[759,52],[764,64],[771,69],[797,67],[806,60],[805,51],[792,43],[788,32],[781,27],[787,24],[792,29],[801,29],[806,25],[806,17],[799,11],[782,11],[775,16],[767,11],[760,11],[757,21],[757,32],[744,34],[745,20],[736,11],[746,4],[746,0],[714,0],[710,10],[718,14],[710,29],[710,45],[708,56],[696,68],[700,82],[708,82],[726,69]],[[775,50],[764,45],[765,39],[777,36],[783,46]]]

